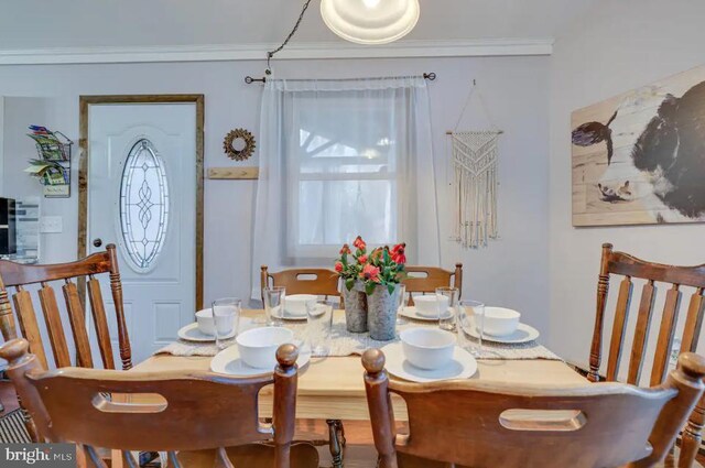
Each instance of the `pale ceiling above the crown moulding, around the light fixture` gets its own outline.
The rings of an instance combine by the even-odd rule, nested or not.
[[[281,42],[304,0],[0,0],[0,50]],[[595,0],[421,0],[416,41],[550,39]],[[341,41],[313,0],[293,43]]]

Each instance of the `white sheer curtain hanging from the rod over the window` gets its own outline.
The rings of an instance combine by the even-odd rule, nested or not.
[[[440,263],[424,78],[268,80],[259,154],[252,298],[260,265],[332,268],[358,235]]]

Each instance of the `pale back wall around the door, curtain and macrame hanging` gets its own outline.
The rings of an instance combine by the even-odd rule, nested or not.
[[[547,326],[547,134],[549,57],[485,57],[423,59],[291,61],[278,63],[282,77],[357,77],[435,72],[430,84],[435,157],[442,211],[447,213],[445,131],[459,116],[473,78],[488,101],[494,120],[505,130],[501,140],[500,233],[489,249],[460,252],[442,239],[443,263],[466,266],[467,297],[520,308],[527,322]],[[78,96],[105,94],[203,92],[206,96],[205,165],[232,165],[221,150],[232,128],[259,134],[261,88],[242,83],[262,73],[262,62],[164,63],[124,65],[0,66],[0,96],[52,97],[61,101],[59,120],[48,122],[73,139],[78,137]],[[477,102],[476,102],[477,104]],[[478,107],[467,126],[486,126]],[[21,126],[43,122],[20,122]],[[26,137],[25,137],[26,138]],[[28,139],[29,140],[29,139]],[[7,160],[24,154],[7,154]],[[76,160],[75,160],[76,162]],[[6,164],[8,162],[6,161]],[[12,167],[24,163],[9,163]],[[256,165],[257,156],[243,165]],[[10,167],[10,166],[8,166]],[[77,170],[77,164],[75,164]],[[75,175],[75,174],[74,174]],[[6,183],[18,175],[6,171]],[[76,182],[74,176],[74,182]],[[44,215],[63,214],[64,233],[46,237],[44,261],[75,255],[77,196],[51,200]],[[250,246],[256,182],[206,181],[205,298],[249,292]],[[40,187],[36,187],[39,191]],[[11,194],[10,194],[11,195]],[[413,261],[413,259],[411,259]]]

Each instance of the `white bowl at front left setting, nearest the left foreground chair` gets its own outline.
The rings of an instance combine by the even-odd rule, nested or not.
[[[294,340],[294,333],[284,327],[253,328],[238,335],[240,358],[249,367],[274,369],[276,348]]]

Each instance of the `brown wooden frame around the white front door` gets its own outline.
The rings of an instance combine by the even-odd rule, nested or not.
[[[79,97],[78,162],[78,258],[88,254],[88,108],[106,104],[195,104],[196,105],[196,311],[203,308],[203,163],[204,95],[107,95]],[[82,293],[85,290],[82,287]]]

